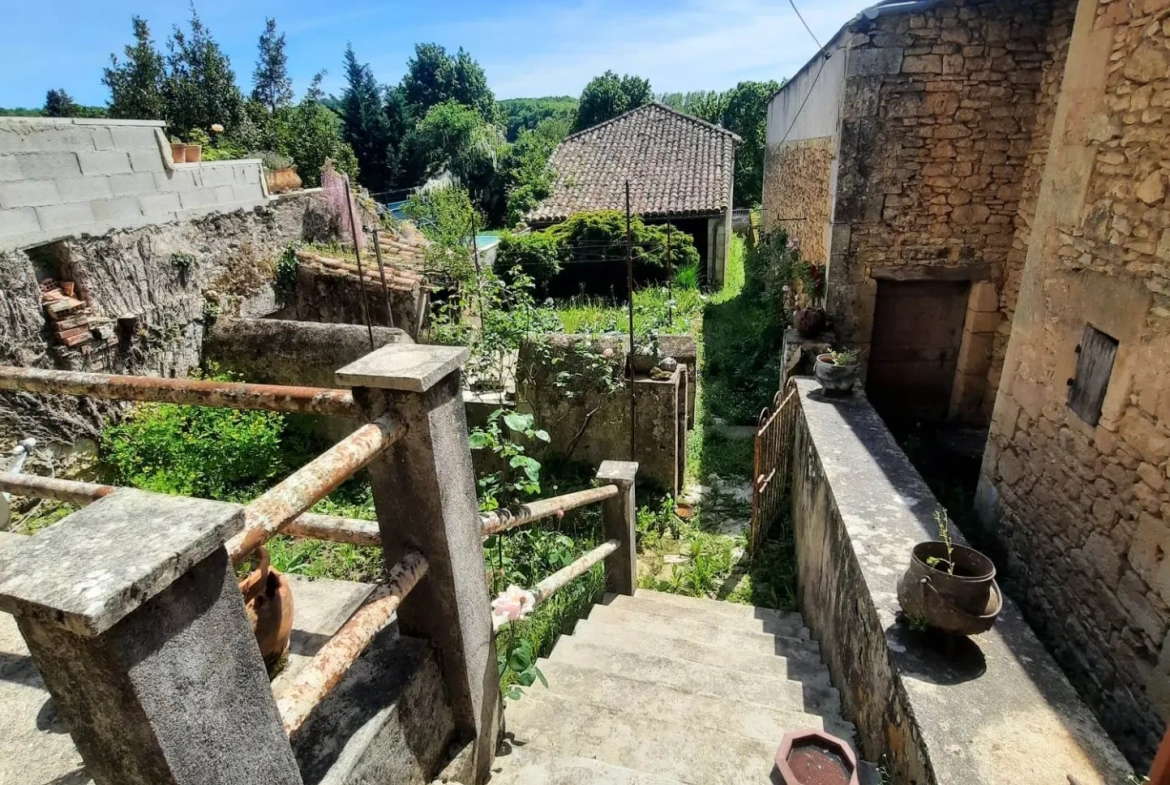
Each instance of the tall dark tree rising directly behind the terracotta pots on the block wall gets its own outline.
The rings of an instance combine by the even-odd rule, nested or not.
[[[190,32],[178,26],[167,42],[166,112],[172,133],[185,135],[212,125],[243,147],[254,143],[232,61],[191,7]]]

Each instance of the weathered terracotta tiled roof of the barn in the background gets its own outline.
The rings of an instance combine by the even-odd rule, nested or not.
[[[731,201],[735,144],[718,125],[649,103],[565,137],[552,153],[552,193],[529,222],[573,213],[626,208],[645,218],[723,212]]]

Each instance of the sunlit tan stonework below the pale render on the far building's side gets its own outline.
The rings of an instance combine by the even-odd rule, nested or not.
[[[787,232],[814,264],[828,263],[834,146],[832,137],[790,142],[769,147],[764,164],[764,226]]]

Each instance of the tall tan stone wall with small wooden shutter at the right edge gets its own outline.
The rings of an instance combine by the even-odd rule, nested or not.
[[[1082,0],[984,457],[1028,618],[1148,764],[1170,718],[1170,2]],[[1090,324],[1100,421],[1068,406]]]

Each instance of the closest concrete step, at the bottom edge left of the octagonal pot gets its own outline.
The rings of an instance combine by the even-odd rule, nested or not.
[[[510,703],[508,728],[516,742],[558,756],[594,758],[690,785],[770,783],[778,744],[701,728],[684,716],[677,722],[636,716],[546,690],[530,690]]]

